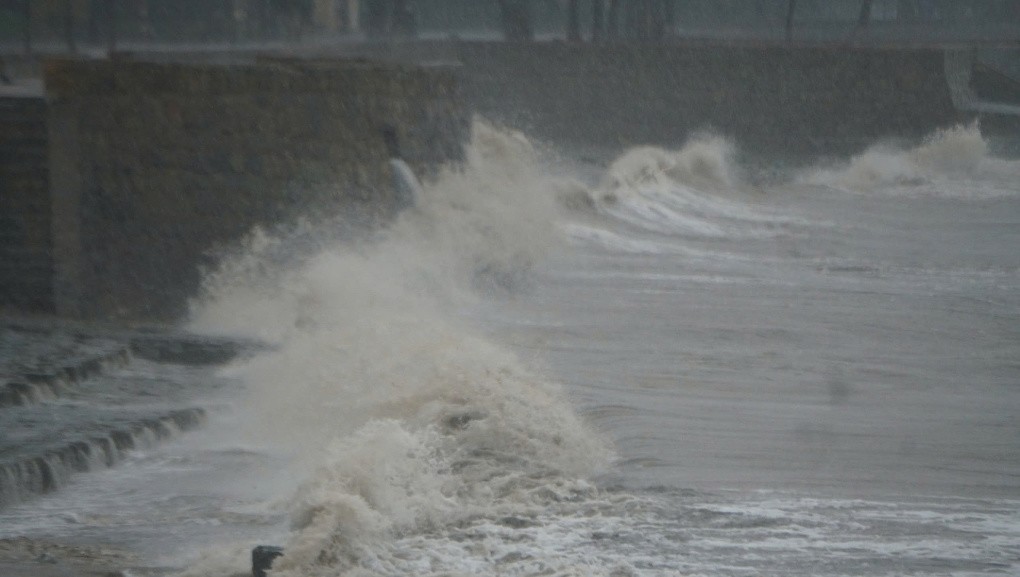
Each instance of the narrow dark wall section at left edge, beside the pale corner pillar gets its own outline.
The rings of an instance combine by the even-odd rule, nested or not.
[[[53,308],[46,103],[0,96],[0,309]]]

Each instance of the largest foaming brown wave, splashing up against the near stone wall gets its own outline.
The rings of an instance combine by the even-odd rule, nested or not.
[[[457,317],[558,242],[533,147],[483,123],[473,143],[373,238],[255,231],[195,303],[192,328],[275,345],[230,369],[249,433],[305,479],[274,574],[379,570],[395,535],[534,507],[609,460],[558,383]]]

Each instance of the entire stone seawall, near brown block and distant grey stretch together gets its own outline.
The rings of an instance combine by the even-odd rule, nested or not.
[[[256,224],[307,211],[386,219],[386,125],[427,173],[460,158],[472,112],[568,146],[676,146],[713,130],[751,154],[856,152],[965,119],[938,48],[457,41],[315,52],[51,61],[45,101],[4,98],[20,108],[0,110],[0,306],[173,318],[209,250]]]

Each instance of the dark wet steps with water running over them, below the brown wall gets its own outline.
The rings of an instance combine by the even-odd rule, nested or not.
[[[233,383],[210,366],[257,348],[157,327],[0,324],[0,508],[199,427],[201,405]]]

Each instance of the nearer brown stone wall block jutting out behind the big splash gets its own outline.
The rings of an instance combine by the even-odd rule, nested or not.
[[[304,211],[395,206],[380,128],[419,173],[460,158],[449,68],[350,61],[52,61],[59,314],[170,319],[211,248]]]

